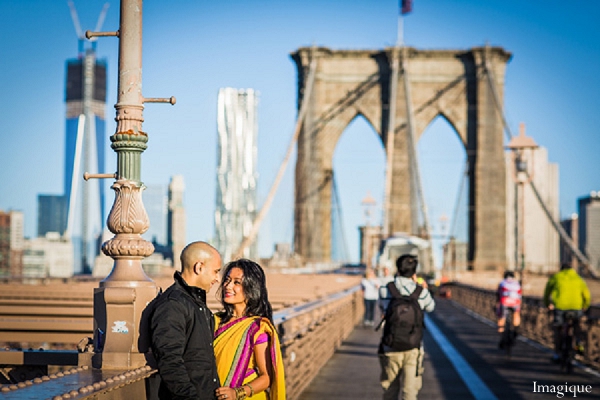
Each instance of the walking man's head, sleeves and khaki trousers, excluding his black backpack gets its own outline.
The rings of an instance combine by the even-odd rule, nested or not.
[[[403,296],[409,296],[417,289],[417,265],[417,257],[409,254],[402,255],[396,260],[397,272],[393,282],[398,292]],[[380,308],[384,315],[392,297],[385,285],[379,289]],[[418,305],[426,312],[431,312],[435,308],[435,301],[426,288],[422,289],[418,297]],[[380,382],[384,390],[384,400],[398,399],[401,375],[403,382],[402,398],[404,400],[415,400],[417,398],[423,380],[423,356],[422,343],[416,348],[406,351],[395,351],[383,343],[380,344]]]

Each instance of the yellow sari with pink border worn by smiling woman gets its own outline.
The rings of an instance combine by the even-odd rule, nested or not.
[[[267,318],[243,317],[220,326],[215,315],[215,357],[222,386],[239,387],[252,382],[257,374],[254,346],[269,343],[273,377],[269,391],[254,394],[253,400],[285,400],[285,376],[279,337]]]

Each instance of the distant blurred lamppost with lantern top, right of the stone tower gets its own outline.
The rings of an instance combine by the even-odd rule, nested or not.
[[[525,184],[533,179],[534,150],[539,146],[525,136],[525,124],[519,125],[519,136],[513,137],[507,148],[512,155],[512,178],[515,183],[515,270],[523,283],[525,270]]]

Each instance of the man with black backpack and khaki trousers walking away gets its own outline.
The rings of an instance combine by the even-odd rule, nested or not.
[[[423,380],[424,312],[435,308],[426,288],[417,285],[416,256],[405,254],[396,260],[396,277],[379,289],[383,334],[379,345],[381,387],[384,400],[414,400]]]

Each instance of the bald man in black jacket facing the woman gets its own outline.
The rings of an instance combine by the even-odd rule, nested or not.
[[[221,256],[214,247],[190,243],[181,252],[175,283],[152,305],[150,338],[161,378],[159,399],[216,398],[220,381],[206,293],[219,282],[220,270]]]

